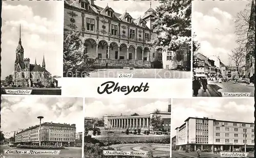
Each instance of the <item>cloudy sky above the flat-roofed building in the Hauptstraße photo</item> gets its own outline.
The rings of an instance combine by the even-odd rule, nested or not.
[[[173,99],[172,137],[176,136],[175,128],[184,124],[188,117],[251,123],[254,122],[254,99]]]

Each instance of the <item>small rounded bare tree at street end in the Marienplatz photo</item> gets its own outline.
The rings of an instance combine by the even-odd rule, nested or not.
[[[234,61],[234,63],[236,64],[238,75],[240,75],[240,66],[244,63],[245,60],[245,53],[245,49],[242,46],[239,46],[232,50],[232,54],[229,54],[230,60]]]

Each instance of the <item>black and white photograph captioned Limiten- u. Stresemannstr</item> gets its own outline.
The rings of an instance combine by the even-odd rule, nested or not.
[[[83,98],[5,96],[1,103],[1,157],[31,158],[5,150],[59,150],[57,157],[82,156]],[[41,136],[41,137],[40,137]],[[56,155],[34,154],[33,157]]]

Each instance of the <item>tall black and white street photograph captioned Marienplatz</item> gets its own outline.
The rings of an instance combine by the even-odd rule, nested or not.
[[[193,1],[193,96],[253,97],[255,0]]]

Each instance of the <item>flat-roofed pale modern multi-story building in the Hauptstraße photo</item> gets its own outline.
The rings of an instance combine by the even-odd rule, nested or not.
[[[243,149],[245,144],[246,151],[254,148],[254,123],[189,117],[176,130],[179,150],[200,148],[213,151],[216,147],[232,151]]]

